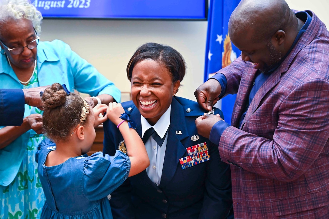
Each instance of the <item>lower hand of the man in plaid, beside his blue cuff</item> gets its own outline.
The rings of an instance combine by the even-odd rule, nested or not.
[[[202,116],[199,116],[195,119],[195,125],[198,130],[198,134],[203,137],[209,138],[211,129],[215,125],[216,122],[223,120],[220,118],[219,114],[213,115],[205,113]]]

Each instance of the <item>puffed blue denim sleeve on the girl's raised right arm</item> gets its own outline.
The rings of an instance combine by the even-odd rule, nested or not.
[[[113,157],[97,152],[84,162],[83,190],[89,200],[99,200],[121,185],[129,175],[130,159],[121,151]]]

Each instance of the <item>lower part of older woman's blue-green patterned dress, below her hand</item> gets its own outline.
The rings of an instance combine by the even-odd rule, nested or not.
[[[45,197],[35,161],[38,144],[43,135],[30,137],[23,161],[13,182],[0,185],[0,219],[40,218]]]

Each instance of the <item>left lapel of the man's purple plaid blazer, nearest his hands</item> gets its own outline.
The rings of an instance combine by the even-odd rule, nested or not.
[[[250,66],[248,66],[250,65]],[[246,64],[245,71],[242,74],[239,90],[237,93],[237,100],[234,103],[233,113],[232,113],[232,126],[238,127],[240,117],[243,113],[244,106],[246,105],[247,97],[251,90],[251,83],[254,81],[256,75],[256,69],[251,67],[251,63]]]

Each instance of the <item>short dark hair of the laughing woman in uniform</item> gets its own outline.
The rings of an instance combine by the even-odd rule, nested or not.
[[[170,46],[152,42],[141,45],[131,57],[127,65],[129,81],[131,81],[135,65],[147,59],[162,63],[171,73],[172,82],[183,81],[186,73],[186,63],[182,55]]]

